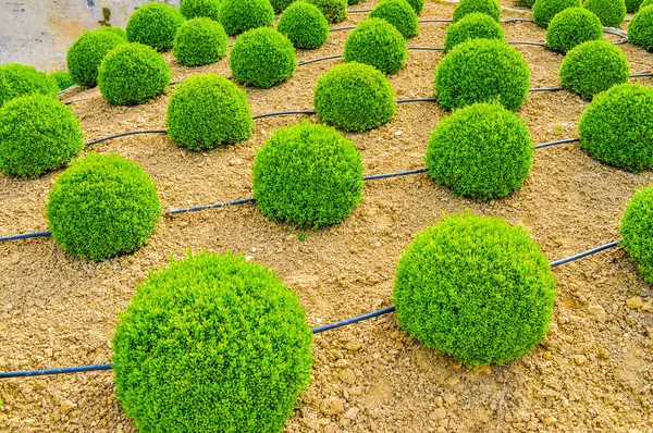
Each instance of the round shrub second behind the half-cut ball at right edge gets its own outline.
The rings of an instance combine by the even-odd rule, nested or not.
[[[629,74],[624,51],[607,40],[590,40],[567,53],[560,66],[560,83],[590,100],[614,85],[628,83]]]

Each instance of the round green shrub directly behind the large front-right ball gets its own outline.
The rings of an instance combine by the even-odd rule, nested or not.
[[[476,200],[502,198],[519,188],[534,158],[532,139],[515,113],[475,103],[443,119],[427,148],[433,181]]]

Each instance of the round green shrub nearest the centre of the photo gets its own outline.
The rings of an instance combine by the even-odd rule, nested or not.
[[[318,228],[362,198],[362,161],[334,128],[303,122],[276,129],[256,154],[254,198],[271,220]]]

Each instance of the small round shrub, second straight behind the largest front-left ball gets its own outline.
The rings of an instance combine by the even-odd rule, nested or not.
[[[202,66],[226,55],[227,45],[229,38],[220,23],[199,17],[182,24],[174,38],[172,52],[184,66]]]

